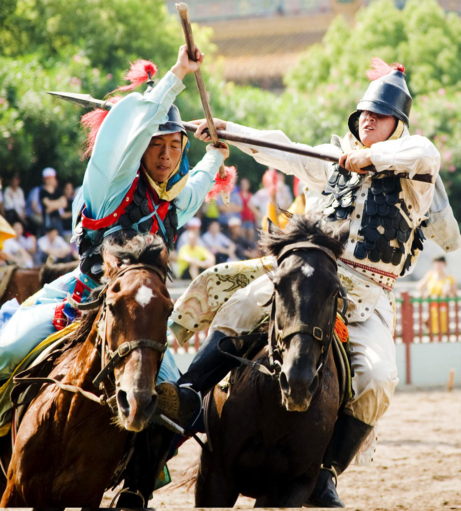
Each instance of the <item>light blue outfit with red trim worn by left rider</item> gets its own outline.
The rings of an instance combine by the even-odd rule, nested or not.
[[[182,52],[182,57],[181,57]],[[183,47],[178,56],[182,58],[184,67]],[[186,53],[187,55],[187,53]],[[188,58],[186,57],[188,60]],[[130,224],[130,228],[141,232],[163,235],[167,245],[172,241],[168,237],[175,236],[175,229],[166,232],[165,218],[158,214],[162,204],[164,213],[171,211],[171,205],[177,215],[177,226],[180,227],[195,215],[206,194],[212,189],[216,173],[223,162],[226,150],[209,148],[208,152],[189,170],[186,157],[188,147],[187,136],[182,126],[176,129],[177,109],[173,101],[179,92],[185,88],[182,84],[184,74],[177,72],[178,62],[155,87],[148,89],[144,95],[132,92],[116,103],[101,124],[88,166],[83,178],[83,185],[73,203],[74,236],[82,236],[81,217],[82,210],[89,222],[89,226],[99,225],[102,222],[106,227],[102,231],[102,238],[110,232],[121,229],[117,224],[107,228],[107,219],[117,216],[120,208],[126,205],[130,193],[133,191],[135,179],[143,173],[141,158],[146,151],[152,136],[160,133],[182,131],[182,156],[175,172],[170,175],[167,183],[154,183],[146,173],[143,174],[145,188],[150,189],[150,211],[138,221]],[[190,63],[194,61],[189,61]],[[194,62],[195,64],[195,62]],[[183,69],[182,69],[183,71]],[[192,72],[189,69],[186,73]],[[180,77],[178,77],[179,75]],[[173,107],[172,107],[173,105]],[[173,128],[170,121],[172,112]],[[174,115],[173,115],[174,117]],[[170,124],[169,124],[170,123]],[[173,131],[172,131],[173,130]],[[227,152],[228,154],[228,152]],[[136,189],[139,190],[139,189]],[[130,192],[131,191],[131,192]],[[147,202],[147,200],[146,200]],[[157,211],[158,210],[158,211]],[[148,230],[142,227],[150,223]],[[91,223],[93,222],[93,223]],[[112,220],[110,220],[112,222]],[[84,230],[87,241],[94,242],[95,237],[101,238],[98,229],[88,227]],[[100,239],[102,241],[102,239]],[[79,240],[77,240],[79,244]],[[82,256],[82,251],[80,250]],[[99,283],[95,278],[95,266],[84,268],[82,264],[73,272],[67,273],[45,285],[25,304],[18,306],[12,300],[5,304],[0,311],[0,381],[9,378],[15,367],[22,359],[44,338],[63,328],[65,324],[75,319],[75,310],[69,304],[63,303],[67,294],[71,294],[77,301],[85,301],[91,290]],[[158,380],[176,380],[179,377],[178,369],[171,353],[167,350]]]

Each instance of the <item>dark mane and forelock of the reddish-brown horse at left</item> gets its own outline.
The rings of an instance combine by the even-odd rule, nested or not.
[[[103,254],[110,254],[116,257],[120,264],[130,265],[137,263],[155,264],[158,262],[160,253],[165,248],[165,243],[159,236],[142,235],[132,233],[116,233],[108,236],[103,243]],[[102,282],[110,280],[109,268],[105,268]],[[88,301],[96,300],[103,285],[91,291]],[[84,340],[88,337],[100,308],[90,309],[82,312],[78,328],[69,336],[69,343]]]

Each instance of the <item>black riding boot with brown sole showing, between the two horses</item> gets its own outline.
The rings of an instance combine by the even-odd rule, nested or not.
[[[157,386],[157,409],[176,424],[186,428],[185,415],[193,415],[196,409],[197,393],[204,396],[219,383],[226,374],[238,365],[238,361],[227,357],[218,349],[218,342],[226,337],[215,330],[200,347],[189,369],[175,382],[162,382]],[[237,349],[231,339],[225,339],[220,347],[227,353],[237,354]],[[194,406],[195,403],[195,406]]]

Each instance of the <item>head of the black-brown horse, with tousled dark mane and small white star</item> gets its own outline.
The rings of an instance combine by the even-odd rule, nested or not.
[[[334,228],[320,216],[294,215],[285,230],[271,227],[260,242],[278,260],[269,350],[289,411],[307,410],[318,388],[341,290],[336,259],[348,235],[349,222]]]

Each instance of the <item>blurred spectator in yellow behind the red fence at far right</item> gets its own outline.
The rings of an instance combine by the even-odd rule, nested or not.
[[[443,256],[432,260],[432,268],[423,276],[417,286],[423,297],[436,299],[456,296],[454,277],[447,275],[446,268],[447,262]],[[429,318],[425,324],[432,334],[447,333],[448,304],[446,301],[437,300],[429,303]]]

